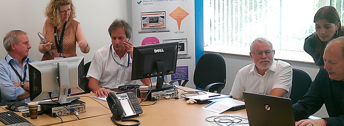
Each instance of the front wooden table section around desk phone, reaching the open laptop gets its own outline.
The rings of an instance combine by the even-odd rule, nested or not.
[[[181,87],[187,91],[195,90],[191,88]],[[182,90],[179,90],[179,94]],[[140,100],[140,99],[139,99]],[[151,104],[153,102],[142,102],[143,104]],[[219,116],[219,115],[230,115],[230,116],[240,116],[247,118],[246,110],[239,110],[235,112],[226,111],[222,114],[217,114],[211,111],[203,110],[202,107],[206,104],[186,104],[184,99],[174,100],[174,99],[164,99],[159,100],[154,105],[150,106],[141,106],[143,113],[140,114],[135,119],[141,121],[140,126],[209,126],[214,125],[213,123],[205,121],[206,117],[210,116]],[[58,124],[57,126],[73,126],[73,125],[114,125],[110,120],[112,114],[81,119],[79,121],[73,121],[63,124]],[[248,123],[248,121],[243,121]],[[132,122],[119,122],[121,124],[133,124]],[[248,125],[248,124],[246,124]]]

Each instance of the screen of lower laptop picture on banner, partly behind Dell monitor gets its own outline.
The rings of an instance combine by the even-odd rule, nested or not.
[[[163,43],[166,42],[179,42],[177,59],[191,59],[191,55],[187,54],[187,38],[164,39]]]

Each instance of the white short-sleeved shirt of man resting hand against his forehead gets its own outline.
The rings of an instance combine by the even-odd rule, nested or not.
[[[110,52],[110,48],[112,48]],[[113,58],[112,58],[112,55]],[[116,54],[115,49],[110,45],[97,50],[89,67],[87,77],[99,80],[98,85],[106,89],[118,88],[118,86],[135,84],[136,80],[131,80],[132,59],[126,53],[122,59]],[[129,67],[128,66],[129,58]],[[120,66],[115,60],[124,66]]]

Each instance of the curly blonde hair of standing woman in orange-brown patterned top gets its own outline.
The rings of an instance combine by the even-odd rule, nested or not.
[[[60,6],[71,4],[71,14],[69,15],[68,22],[72,21],[75,17],[75,7],[71,0],[51,0],[46,7],[45,17],[52,22],[53,26],[60,27],[61,23],[61,13]]]

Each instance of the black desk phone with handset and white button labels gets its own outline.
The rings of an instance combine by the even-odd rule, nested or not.
[[[137,122],[135,125],[140,125],[140,121],[137,119],[128,119],[132,117],[139,116],[143,113],[142,108],[136,98],[134,92],[126,92],[117,94],[115,92],[109,92],[108,97],[106,98],[109,105],[112,117],[110,119],[118,126],[126,126],[123,124],[117,123],[115,120],[121,120],[122,122]]]

